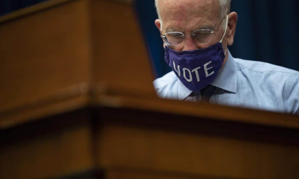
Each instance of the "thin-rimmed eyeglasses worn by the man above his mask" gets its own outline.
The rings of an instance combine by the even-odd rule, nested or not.
[[[222,18],[220,24],[222,23],[225,17],[226,16]],[[163,39],[165,44],[170,46],[181,45],[185,40],[185,36],[192,36],[192,38],[197,44],[208,44],[214,39],[215,33],[218,31],[220,24],[218,25],[216,31],[213,31],[211,29],[200,29],[193,31],[191,35],[184,35],[181,32],[169,32],[165,33],[163,36],[161,36],[161,38]]]

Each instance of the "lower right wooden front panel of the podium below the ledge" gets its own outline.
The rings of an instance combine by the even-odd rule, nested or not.
[[[193,175],[194,178],[201,175],[211,178],[299,176],[298,144],[127,126],[109,126],[101,133],[98,160],[106,168],[144,169],[151,171],[148,174],[160,171],[166,176]]]

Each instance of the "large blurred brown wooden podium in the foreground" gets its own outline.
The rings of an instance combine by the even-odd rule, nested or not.
[[[155,96],[131,3],[0,17],[0,178],[299,178],[298,116]]]

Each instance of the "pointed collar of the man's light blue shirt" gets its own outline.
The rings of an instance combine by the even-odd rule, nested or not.
[[[184,100],[187,98],[192,91],[189,90],[181,81],[178,79],[176,81],[178,83],[178,99]],[[236,93],[237,92],[237,74],[234,57],[228,50],[228,59],[219,72],[216,79],[211,83],[211,85],[221,88],[223,90]]]

